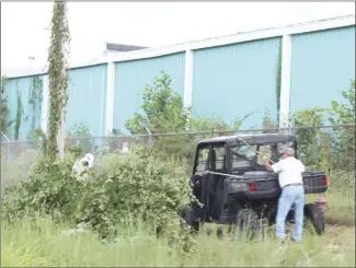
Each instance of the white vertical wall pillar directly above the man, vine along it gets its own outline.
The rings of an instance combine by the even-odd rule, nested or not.
[[[291,36],[284,35],[282,38],[282,74],[279,96],[279,127],[289,125],[289,94],[291,74]]]

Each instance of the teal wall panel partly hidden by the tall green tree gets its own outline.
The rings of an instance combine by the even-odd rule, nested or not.
[[[127,132],[125,123],[140,110],[141,93],[146,84],[164,71],[172,79],[171,86],[184,94],[185,54],[117,62],[115,67],[114,128]]]

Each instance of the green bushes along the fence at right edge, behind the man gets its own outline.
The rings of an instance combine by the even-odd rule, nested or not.
[[[343,103],[331,107],[297,110],[291,116],[295,127],[355,124],[355,81],[343,91]],[[297,129],[300,159],[312,170],[355,171],[355,127],[335,129]]]

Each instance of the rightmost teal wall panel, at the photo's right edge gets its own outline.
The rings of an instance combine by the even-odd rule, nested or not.
[[[292,36],[290,112],[330,107],[355,79],[355,26]]]

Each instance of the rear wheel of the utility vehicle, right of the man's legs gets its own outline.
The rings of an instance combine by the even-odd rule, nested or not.
[[[318,235],[325,231],[325,218],[323,210],[315,203],[307,203],[305,206],[305,226],[313,229]]]

